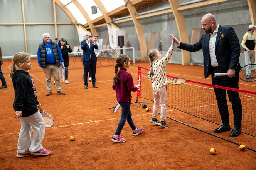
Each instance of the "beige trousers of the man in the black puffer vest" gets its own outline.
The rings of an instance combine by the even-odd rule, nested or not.
[[[46,68],[43,68],[43,70],[46,77],[47,91],[52,91],[52,77],[54,78],[57,92],[61,91],[61,81],[59,80],[59,67],[56,64],[47,64]]]

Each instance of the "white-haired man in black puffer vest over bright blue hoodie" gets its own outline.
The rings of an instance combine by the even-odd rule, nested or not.
[[[58,95],[64,95],[61,91],[61,82],[59,80],[59,67],[64,65],[64,60],[61,54],[61,48],[56,42],[52,42],[50,34],[43,34],[43,42],[39,44],[37,50],[38,65],[43,68],[46,77],[47,96],[52,95],[52,81],[55,80],[55,86]]]

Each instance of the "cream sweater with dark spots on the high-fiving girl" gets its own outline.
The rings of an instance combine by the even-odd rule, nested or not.
[[[154,75],[150,75],[150,71],[148,72],[148,79],[152,80],[153,91],[159,90],[162,86],[166,85],[167,77],[166,77],[166,66],[169,63],[169,60],[173,53],[173,46],[169,48],[165,57],[160,60],[154,60],[152,62],[152,67]]]

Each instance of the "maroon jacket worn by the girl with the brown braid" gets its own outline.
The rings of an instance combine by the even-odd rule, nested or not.
[[[116,90],[116,101],[129,102],[131,101],[131,91],[136,92],[138,88],[134,86],[133,77],[126,68],[120,68],[117,75],[120,82],[117,85],[112,85],[112,88]]]

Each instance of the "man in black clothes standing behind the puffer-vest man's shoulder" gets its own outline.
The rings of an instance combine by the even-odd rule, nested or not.
[[[69,81],[67,80],[69,75],[69,53],[71,53],[73,50],[70,47],[70,45],[67,43],[67,41],[64,38],[61,38],[59,40],[59,47],[61,48],[61,54],[64,59],[64,66],[65,66],[65,83],[68,84]]]

